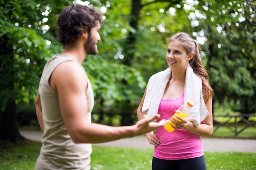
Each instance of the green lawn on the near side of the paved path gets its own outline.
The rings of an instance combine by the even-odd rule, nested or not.
[[[12,147],[12,148],[11,148]],[[34,170],[40,142],[0,150],[0,170]],[[153,149],[93,146],[91,170],[151,170]],[[207,170],[254,170],[256,153],[205,152]]]

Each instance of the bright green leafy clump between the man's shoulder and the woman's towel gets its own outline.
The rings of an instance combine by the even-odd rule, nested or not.
[[[121,100],[135,100],[138,96],[132,89],[146,86],[143,77],[136,69],[120,63],[109,63],[98,56],[88,56],[83,62],[94,89],[96,99],[103,99],[110,106]],[[123,82],[128,84],[124,86]]]

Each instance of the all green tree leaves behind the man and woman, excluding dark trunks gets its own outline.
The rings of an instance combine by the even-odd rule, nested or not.
[[[202,60],[209,71],[215,99],[221,100],[223,95],[232,99],[255,95],[256,2],[152,2],[141,1],[144,6],[139,11],[138,28],[129,25],[131,0],[86,2],[99,10],[104,9],[105,17],[98,43],[99,54],[88,56],[84,64],[96,100],[103,98],[106,105],[112,100],[139,100],[148,78],[167,67],[166,40],[180,31],[189,33],[202,45]],[[21,91],[31,88],[35,95],[45,61],[63,49],[56,41],[56,15],[73,1],[2,0],[0,3],[0,36],[8,37],[8,45],[13,48],[16,59],[16,74],[12,75],[17,78],[15,87]],[[121,63],[122,57],[127,59],[124,51],[129,48],[126,44],[129,32],[136,34],[136,40],[132,44],[134,48],[128,50],[133,58],[131,66],[127,67]],[[119,54],[124,56],[115,59]]]

